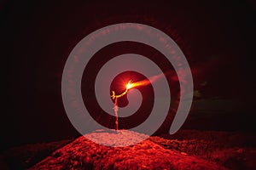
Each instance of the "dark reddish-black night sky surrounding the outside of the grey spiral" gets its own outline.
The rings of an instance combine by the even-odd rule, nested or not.
[[[61,100],[66,59],[90,32],[121,22],[154,26],[183,50],[196,90],[183,128],[253,131],[255,5],[177,2],[2,1],[1,149],[79,135]]]

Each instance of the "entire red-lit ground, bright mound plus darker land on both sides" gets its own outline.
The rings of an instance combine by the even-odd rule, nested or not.
[[[144,138],[141,133],[98,131],[87,134],[117,146]],[[79,137],[5,150],[1,169],[255,169],[253,133],[183,130],[125,147],[96,144]]]

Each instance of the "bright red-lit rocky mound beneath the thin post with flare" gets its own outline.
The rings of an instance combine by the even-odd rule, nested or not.
[[[124,134],[124,133],[123,133]],[[90,133],[103,143],[119,142],[119,133]],[[142,134],[143,135],[143,134]],[[126,131],[121,142],[138,138]],[[147,139],[126,147],[96,144],[84,136],[55,150],[31,169],[225,169],[216,162],[207,161],[185,152],[168,150]]]

